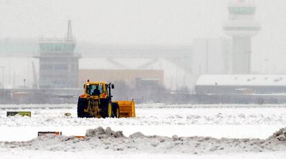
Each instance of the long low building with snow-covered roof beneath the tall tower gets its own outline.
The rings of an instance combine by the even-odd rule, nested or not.
[[[286,75],[201,75],[197,93],[286,93]]]

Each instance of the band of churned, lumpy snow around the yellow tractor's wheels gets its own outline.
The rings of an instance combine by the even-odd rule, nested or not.
[[[70,109],[1,109],[0,126],[41,127],[41,126],[96,126],[96,125],[191,125],[191,124],[286,124],[286,106],[279,107],[176,107],[138,105],[136,118],[97,119],[77,118],[76,105]],[[154,104],[156,105],[156,104]],[[46,105],[49,106],[49,105]],[[8,117],[6,111],[32,111],[32,118]],[[71,113],[67,118],[64,113]]]

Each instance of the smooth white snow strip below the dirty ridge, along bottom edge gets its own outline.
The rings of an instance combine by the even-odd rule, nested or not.
[[[35,150],[26,150],[26,151],[0,151],[0,157],[5,159],[62,159],[62,158],[105,158],[105,159],[284,159],[286,156],[286,151],[279,152],[267,152],[267,153],[227,153],[227,154],[150,154],[150,153],[131,153],[131,154],[122,154],[122,152],[113,152],[113,153],[101,153],[91,151],[79,151],[79,152],[66,152],[66,151],[35,151]]]

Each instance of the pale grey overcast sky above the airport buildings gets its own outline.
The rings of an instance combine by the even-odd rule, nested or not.
[[[189,45],[226,37],[229,0],[0,0],[0,39],[62,37],[67,20],[78,41]],[[262,29],[253,39],[254,69],[286,71],[286,1],[257,0]]]

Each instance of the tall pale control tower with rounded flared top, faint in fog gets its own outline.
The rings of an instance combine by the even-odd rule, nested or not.
[[[260,24],[254,20],[256,6],[253,1],[231,0],[229,19],[223,29],[232,37],[232,73],[251,73],[251,37],[258,34]]]

